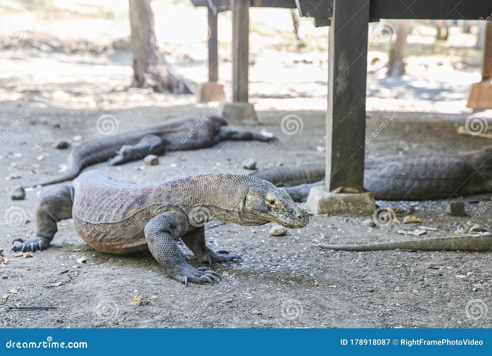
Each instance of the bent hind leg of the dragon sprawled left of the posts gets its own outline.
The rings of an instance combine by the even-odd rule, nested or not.
[[[145,135],[134,145],[123,145],[116,156],[108,160],[108,165],[138,161],[148,155],[161,155],[165,152],[166,143],[157,135]]]

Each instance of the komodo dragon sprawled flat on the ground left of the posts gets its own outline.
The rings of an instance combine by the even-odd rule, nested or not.
[[[99,162],[122,164],[176,149],[185,151],[211,147],[222,140],[276,139],[248,130],[230,129],[227,122],[218,116],[185,116],[150,128],[96,138],[74,147],[68,156],[68,171],[37,185],[46,186],[74,179],[84,167]]]

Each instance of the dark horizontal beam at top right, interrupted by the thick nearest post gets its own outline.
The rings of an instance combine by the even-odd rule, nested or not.
[[[334,0],[296,0],[301,16],[328,18]],[[350,1],[348,1],[350,2]],[[369,21],[380,19],[477,20],[490,18],[490,0],[366,0]]]

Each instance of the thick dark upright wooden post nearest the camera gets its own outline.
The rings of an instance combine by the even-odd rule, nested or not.
[[[326,185],[362,191],[366,135],[368,0],[334,0],[328,42]]]

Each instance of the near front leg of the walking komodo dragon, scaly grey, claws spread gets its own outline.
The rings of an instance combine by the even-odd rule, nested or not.
[[[195,268],[184,259],[175,240],[184,237],[191,228],[188,217],[183,213],[163,213],[155,216],[145,226],[145,238],[154,258],[162,264],[174,279],[183,282],[214,284],[220,279],[217,272],[207,267]]]

